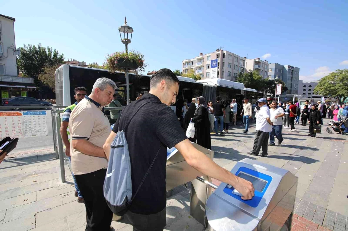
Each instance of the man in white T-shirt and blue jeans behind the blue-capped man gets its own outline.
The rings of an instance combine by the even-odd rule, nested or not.
[[[268,144],[268,146],[275,146],[274,135],[276,135],[276,137],[278,139],[278,144],[281,144],[283,142],[282,117],[285,115],[285,111],[283,108],[281,108],[277,105],[276,101],[273,101],[271,104],[270,113],[271,113],[271,122],[273,122],[273,125],[272,125],[272,131],[269,132],[269,144]]]

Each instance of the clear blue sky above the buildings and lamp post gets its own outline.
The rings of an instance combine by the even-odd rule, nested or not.
[[[165,3],[164,3],[165,2]],[[129,49],[147,70],[181,69],[182,60],[220,46],[240,56],[300,68],[317,80],[348,68],[348,1],[6,1],[16,46],[52,46],[87,63],[123,51],[118,27],[134,29]]]

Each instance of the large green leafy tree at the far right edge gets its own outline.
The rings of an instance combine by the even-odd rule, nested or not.
[[[336,70],[319,80],[314,88],[315,94],[332,96],[338,99],[338,103],[343,102],[348,96],[348,69]]]

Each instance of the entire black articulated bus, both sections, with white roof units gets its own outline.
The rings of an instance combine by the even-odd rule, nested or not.
[[[126,105],[126,77],[124,72],[109,72],[108,70],[62,65],[55,72],[56,84],[56,105],[71,105],[75,102],[74,89],[84,86],[89,91],[92,90],[94,82],[101,77],[112,79],[116,85],[117,99],[122,105]],[[136,75],[129,73],[129,99],[136,100],[140,93],[147,93],[150,90],[150,77],[148,75]],[[177,76],[180,81],[177,101],[171,106],[177,117],[181,116],[181,108],[184,100],[191,102],[193,97],[203,95],[206,101],[215,101],[216,96],[227,99],[229,102],[236,99],[238,110],[242,106],[244,97],[248,97],[251,103],[262,93],[255,89],[245,88],[244,84],[236,83],[226,79],[204,79],[195,82],[192,78]]]

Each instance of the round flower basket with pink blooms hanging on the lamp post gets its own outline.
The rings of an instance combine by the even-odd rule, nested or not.
[[[128,68],[128,70],[139,73],[145,71],[146,67],[144,55],[137,51],[115,52],[106,56],[106,69],[111,72],[125,71]]]

